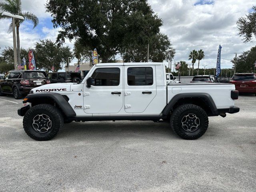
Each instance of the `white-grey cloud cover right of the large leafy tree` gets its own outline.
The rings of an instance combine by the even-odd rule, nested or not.
[[[188,60],[191,50],[203,49],[205,59],[200,65],[216,65],[219,44],[222,45],[222,68],[232,66],[234,52],[249,50],[254,43],[242,42],[236,21],[252,7],[251,0],[216,0],[197,5],[197,0],[149,0],[155,13],[163,19],[161,32],[168,34],[176,48],[175,60]]]

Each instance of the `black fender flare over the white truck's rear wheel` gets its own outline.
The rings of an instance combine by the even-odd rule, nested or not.
[[[172,109],[172,107],[176,104],[176,102],[178,102],[178,100],[182,99],[182,98],[200,98],[202,99],[205,104],[207,104],[210,107],[211,110],[211,115],[212,116],[218,116],[219,112],[218,109],[216,108],[216,105],[212,99],[212,97],[210,96],[210,94],[208,93],[180,93],[175,95],[170,102],[165,106],[165,108],[162,111],[163,116],[167,116],[170,112],[170,110]]]

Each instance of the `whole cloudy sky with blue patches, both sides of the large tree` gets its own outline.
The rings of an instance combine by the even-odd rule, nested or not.
[[[231,68],[230,60],[235,52],[241,54],[256,45],[243,43],[238,35],[236,21],[251,11],[252,0],[149,0],[152,9],[163,20],[160,32],[167,34],[176,49],[175,61],[188,60],[192,50],[204,50],[205,58],[200,61],[200,68],[216,66],[219,44],[222,46],[221,66]],[[56,40],[58,30],[53,28],[51,16],[45,9],[46,0],[22,0],[22,9],[36,14],[39,25],[33,29],[25,21],[20,27],[20,45],[32,48],[40,39]],[[8,34],[11,20],[0,20],[0,48],[13,46],[12,33]],[[65,45],[73,48],[74,40],[66,40]],[[118,58],[117,58],[118,59]],[[72,60],[71,64],[76,62]],[[197,66],[198,61],[196,62]],[[197,68],[197,67],[196,67]]]

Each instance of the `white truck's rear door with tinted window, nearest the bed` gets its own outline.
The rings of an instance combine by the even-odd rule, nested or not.
[[[156,96],[155,66],[125,66],[124,108],[126,113],[142,113]]]

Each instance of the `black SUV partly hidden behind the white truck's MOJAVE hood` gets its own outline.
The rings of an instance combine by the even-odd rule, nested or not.
[[[78,72],[53,72],[48,73],[47,77],[51,83],[79,83],[82,81],[81,74]]]

